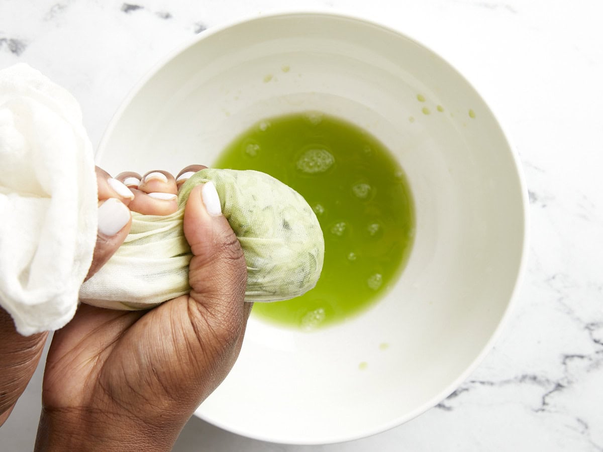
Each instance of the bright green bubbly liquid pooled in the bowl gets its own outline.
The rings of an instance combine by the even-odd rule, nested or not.
[[[323,229],[316,287],[292,300],[256,303],[254,315],[311,330],[362,312],[395,283],[414,237],[411,192],[396,159],[366,131],[315,112],[266,119],[230,143],[214,166],[276,177],[304,196]]]

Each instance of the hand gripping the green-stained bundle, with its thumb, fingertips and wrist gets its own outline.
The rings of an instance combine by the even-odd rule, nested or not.
[[[180,175],[201,168],[187,167]],[[183,182],[161,173],[165,178],[142,178],[137,187],[137,174],[118,176],[136,195],[131,210],[166,215],[177,209],[175,198],[163,199],[165,210],[157,213],[150,202],[157,198],[147,199],[149,192],[175,194]],[[150,311],[81,305],[55,332],[37,450],[170,450],[198,404],[232,368],[251,310],[244,303],[247,268],[211,187],[196,187],[186,204],[184,231],[193,254],[189,295]]]

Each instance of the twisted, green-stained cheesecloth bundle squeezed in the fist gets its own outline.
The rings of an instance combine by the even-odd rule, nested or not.
[[[191,250],[183,232],[186,200],[213,181],[222,212],[247,263],[245,301],[277,301],[312,289],[323,267],[324,239],[305,199],[257,171],[203,169],[180,189],[172,215],[132,214],[130,234],[80,288],[80,300],[110,309],[149,309],[190,290]]]

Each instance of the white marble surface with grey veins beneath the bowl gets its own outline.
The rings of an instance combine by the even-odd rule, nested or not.
[[[603,4],[598,0],[0,0],[0,67],[25,61],[69,89],[97,144],[134,83],[204,28],[274,8],[347,11],[456,66],[520,154],[531,245],[516,309],[460,388],[371,438],[254,441],[193,418],[176,451],[603,451]],[[1,171],[1,170],[0,170]],[[42,366],[0,430],[33,447]]]

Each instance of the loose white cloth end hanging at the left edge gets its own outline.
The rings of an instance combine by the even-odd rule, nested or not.
[[[0,71],[0,306],[19,333],[63,327],[96,243],[92,144],[80,106],[27,64]]]

